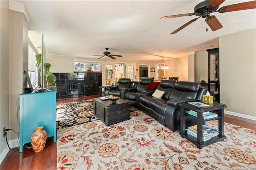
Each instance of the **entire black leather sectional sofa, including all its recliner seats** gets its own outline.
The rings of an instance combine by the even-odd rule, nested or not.
[[[180,107],[178,103],[202,100],[202,95],[206,94],[206,89],[201,87],[200,83],[162,80],[156,89],[164,94],[158,99],[152,96],[156,89],[146,90],[152,81],[153,79],[140,79],[140,82],[119,79],[117,86],[106,87],[104,95],[112,94],[128,100],[132,106],[139,108],[165,127],[172,131],[179,131]],[[190,119],[186,119],[187,127],[194,124]]]

